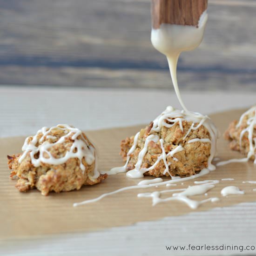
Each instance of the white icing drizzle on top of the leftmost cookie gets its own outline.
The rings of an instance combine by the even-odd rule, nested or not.
[[[36,146],[38,139],[38,135],[42,133],[42,137],[40,138],[40,142],[42,142],[44,139],[56,139],[55,136],[49,135],[50,132],[53,129],[59,129],[59,130],[65,130],[66,135],[62,136],[58,141],[54,143],[49,143],[48,141],[44,141],[41,145]],[[54,147],[57,144],[63,143],[67,137],[72,136],[72,140],[74,140],[71,148],[69,151],[66,152],[66,155],[60,158],[55,158],[49,151],[50,148]],[[78,139],[78,136],[80,136],[80,139]],[[59,165],[67,162],[70,158],[78,158],[80,160],[80,168],[84,172],[85,166],[82,163],[82,159],[85,158],[85,161],[90,165],[95,160],[96,152],[94,150],[94,147],[88,144],[88,141],[84,138],[82,135],[81,130],[78,128],[74,128],[72,126],[69,126],[67,124],[58,124],[57,126],[47,128],[43,127],[40,130],[37,131],[36,135],[32,137],[32,141],[28,143],[28,139],[31,138],[31,136],[27,137],[24,145],[22,147],[23,154],[19,158],[19,162],[22,162],[22,160],[26,157],[27,154],[31,157],[31,162],[35,167],[40,166],[41,163],[47,163],[47,164],[53,164],[53,165]],[[35,157],[35,155],[39,153],[38,158]],[[95,161],[96,162],[96,161]],[[96,167],[96,164],[95,164]],[[94,178],[97,178],[100,175],[100,173],[97,171],[96,168],[94,168]]]

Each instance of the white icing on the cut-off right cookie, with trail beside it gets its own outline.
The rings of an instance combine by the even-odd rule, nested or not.
[[[253,131],[254,127],[256,126],[256,107],[252,107],[246,112],[241,115],[239,122],[236,125],[236,128],[239,128],[243,122],[243,119],[246,115],[253,115],[252,117],[249,117],[247,120],[247,127],[244,128],[240,134],[240,148],[242,148],[242,140],[245,133],[247,133],[247,139],[249,141],[249,152],[247,154],[247,157],[241,158],[241,159],[229,159],[227,161],[218,162],[216,165],[221,166],[224,164],[229,164],[232,162],[248,162],[251,156],[255,155],[255,149],[256,149],[256,138],[253,138]],[[256,157],[254,160],[254,163],[256,164]]]

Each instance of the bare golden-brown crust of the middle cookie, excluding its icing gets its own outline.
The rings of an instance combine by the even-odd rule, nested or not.
[[[138,143],[135,151],[130,155],[130,160],[127,165],[127,171],[135,168],[135,164],[138,160],[138,155],[141,149],[144,147],[145,140],[148,135],[158,135],[163,139],[163,147],[166,154],[174,148],[181,145],[184,149],[177,152],[174,156],[178,161],[171,156],[167,157],[167,162],[170,162],[169,173],[172,176],[190,176],[199,173],[203,168],[208,167],[208,158],[210,156],[211,143],[205,143],[202,141],[196,141],[188,143],[192,139],[206,139],[211,140],[209,131],[203,125],[196,130],[191,130],[189,135],[185,139],[184,136],[187,134],[192,122],[182,121],[183,131],[180,128],[179,123],[175,123],[171,128],[163,126],[159,132],[152,131],[152,122],[146,127],[141,129]],[[197,126],[198,123],[195,124]],[[134,136],[126,138],[121,141],[121,152],[120,155],[124,161],[127,160],[128,150],[131,148],[134,142]],[[157,157],[162,154],[162,148],[160,141],[150,141],[148,143],[148,151],[143,158],[141,168],[151,167],[157,160]],[[152,175],[155,177],[169,176],[168,172],[164,174],[165,164],[161,160],[154,169],[147,171],[144,175]]]

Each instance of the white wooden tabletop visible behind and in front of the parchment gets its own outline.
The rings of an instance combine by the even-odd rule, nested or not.
[[[209,114],[255,104],[241,92],[184,92],[187,107]],[[69,123],[100,129],[148,123],[167,105],[179,107],[173,90],[0,87],[0,136],[34,134],[42,126]],[[4,206],[1,206],[4,207]],[[216,208],[98,232],[0,241],[1,255],[198,255],[239,251],[167,251],[170,245],[256,245],[256,203]],[[247,251],[255,254],[256,251]]]

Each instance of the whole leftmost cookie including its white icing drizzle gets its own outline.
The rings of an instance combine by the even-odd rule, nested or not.
[[[93,185],[107,177],[97,170],[96,151],[78,128],[59,124],[43,127],[26,138],[23,153],[8,155],[11,178],[21,192],[37,188],[42,195]]]

